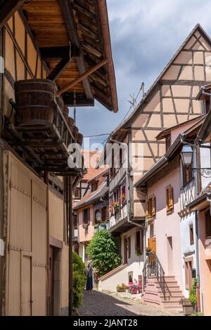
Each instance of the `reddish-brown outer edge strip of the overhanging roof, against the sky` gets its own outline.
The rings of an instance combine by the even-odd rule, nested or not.
[[[98,0],[98,14],[100,17],[101,23],[101,32],[103,36],[103,44],[105,47],[105,57],[109,59],[107,63],[108,67],[108,75],[110,81],[110,93],[113,104],[113,112],[118,112],[118,101],[117,101],[117,89],[116,89],[116,81],[115,81],[115,70],[112,59],[112,51],[110,46],[110,29],[108,25],[108,10],[106,5],[106,0]]]

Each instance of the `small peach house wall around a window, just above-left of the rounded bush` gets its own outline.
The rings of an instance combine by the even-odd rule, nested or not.
[[[90,223],[88,230],[83,228],[83,210],[90,207]],[[92,205],[79,209],[79,242],[89,242],[94,235],[94,208]]]

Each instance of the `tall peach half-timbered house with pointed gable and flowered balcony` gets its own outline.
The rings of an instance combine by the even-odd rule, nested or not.
[[[113,146],[122,143],[128,146],[129,166],[122,166],[127,161],[124,157],[122,161],[122,151],[108,152],[112,167],[109,183],[110,231],[120,237],[122,266],[103,277],[102,289],[108,289],[110,284],[115,288],[115,284],[129,279],[141,282],[147,201],[146,193],[134,189],[134,184],[171,145],[170,138],[157,140],[158,134],[203,113],[195,98],[200,86],[210,84],[210,55],[210,37],[200,25],[196,25],[132,114],[108,138],[108,143]],[[113,211],[114,203],[118,206],[117,212]]]

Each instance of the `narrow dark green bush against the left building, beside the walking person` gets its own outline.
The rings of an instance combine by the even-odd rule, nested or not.
[[[82,303],[86,276],[84,275],[85,265],[82,258],[73,251],[73,306],[78,308]]]

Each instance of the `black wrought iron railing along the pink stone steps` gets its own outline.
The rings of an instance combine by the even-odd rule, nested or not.
[[[156,253],[151,253],[147,256],[146,262],[143,266],[143,288],[146,286],[146,281],[148,277],[156,277],[158,283],[160,285],[160,289],[164,295],[164,299],[166,297],[166,293],[170,293],[168,286],[165,282],[165,271],[162,268],[160,260]]]

